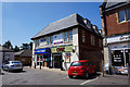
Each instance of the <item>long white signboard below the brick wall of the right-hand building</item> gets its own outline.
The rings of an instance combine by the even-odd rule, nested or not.
[[[122,36],[117,36],[117,37],[108,37],[107,38],[107,44],[118,42],[118,41],[128,41],[128,40],[130,40],[130,35],[122,35]]]

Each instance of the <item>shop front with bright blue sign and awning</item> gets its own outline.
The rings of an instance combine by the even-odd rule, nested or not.
[[[36,55],[36,65],[40,66],[40,64],[44,67],[49,67],[51,65],[51,49],[50,48],[41,48],[35,49]]]

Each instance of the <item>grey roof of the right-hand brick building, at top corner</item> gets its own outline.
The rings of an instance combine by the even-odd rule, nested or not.
[[[118,8],[119,5],[123,5],[126,3],[130,3],[130,1],[129,0],[104,0],[102,5],[104,5],[105,9],[110,10],[114,8]]]

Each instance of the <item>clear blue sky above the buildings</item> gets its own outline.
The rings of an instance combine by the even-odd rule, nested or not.
[[[3,2],[2,45],[30,42],[47,25],[78,13],[102,29],[100,5],[102,2]]]

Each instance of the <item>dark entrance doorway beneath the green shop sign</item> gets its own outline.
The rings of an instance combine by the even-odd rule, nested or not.
[[[58,53],[58,54],[53,54],[53,66],[55,69],[61,69],[62,67],[62,54]]]

